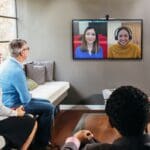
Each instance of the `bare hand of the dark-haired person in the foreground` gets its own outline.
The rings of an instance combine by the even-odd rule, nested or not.
[[[74,134],[74,137],[76,137],[80,142],[83,142],[85,140],[92,139],[93,134],[89,130],[80,130]]]

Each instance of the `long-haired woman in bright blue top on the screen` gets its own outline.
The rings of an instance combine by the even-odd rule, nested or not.
[[[82,37],[81,46],[75,50],[77,59],[101,59],[103,58],[102,47],[98,46],[98,35],[93,27],[87,27]]]

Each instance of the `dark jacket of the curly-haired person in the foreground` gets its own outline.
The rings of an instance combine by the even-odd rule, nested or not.
[[[123,137],[113,144],[86,144],[83,150],[150,150],[150,136]],[[66,143],[61,150],[78,150],[74,143]]]

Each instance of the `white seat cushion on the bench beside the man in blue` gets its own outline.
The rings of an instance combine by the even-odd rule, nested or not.
[[[39,85],[36,89],[30,91],[33,98],[47,99],[51,103],[63,95],[70,87],[69,82],[66,81],[50,81]]]

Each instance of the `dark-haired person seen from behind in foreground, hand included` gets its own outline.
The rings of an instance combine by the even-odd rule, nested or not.
[[[140,89],[133,86],[116,89],[107,100],[105,111],[111,126],[121,137],[112,144],[86,144],[84,150],[149,150],[150,135],[144,133],[148,121],[148,104],[148,96]],[[84,140],[93,138],[90,131],[80,130],[67,138],[62,150],[78,150]]]

